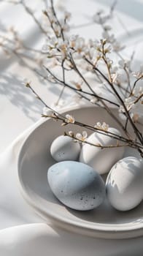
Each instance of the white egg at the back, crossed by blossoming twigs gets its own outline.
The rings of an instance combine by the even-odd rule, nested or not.
[[[117,129],[112,127],[110,127],[108,131],[115,135],[121,135]],[[107,136],[105,132],[104,135],[94,132],[88,137],[87,141],[93,144],[99,143],[101,146],[115,146],[117,144],[117,140]],[[80,152],[80,162],[90,165],[93,169],[97,170],[99,174],[104,174],[109,172],[112,165],[123,157],[123,153],[123,147],[99,148],[89,144],[84,144]]]

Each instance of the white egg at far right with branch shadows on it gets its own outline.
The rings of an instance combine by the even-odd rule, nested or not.
[[[143,199],[143,160],[125,157],[110,170],[107,181],[109,203],[120,211],[128,211]]]

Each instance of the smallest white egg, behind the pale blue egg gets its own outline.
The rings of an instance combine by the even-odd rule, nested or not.
[[[50,154],[56,162],[77,160],[80,154],[80,143],[68,136],[59,136],[50,146]]]

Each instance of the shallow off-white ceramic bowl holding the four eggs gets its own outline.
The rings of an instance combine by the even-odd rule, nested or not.
[[[68,111],[76,120],[95,124],[106,121],[117,127],[112,118],[101,108],[80,108]],[[118,127],[117,127],[118,128]],[[63,206],[53,195],[47,184],[47,169],[54,161],[50,156],[50,144],[63,131],[79,127],[61,123],[50,118],[26,138],[18,159],[18,176],[23,196],[39,214],[50,218],[56,225],[66,230],[98,238],[132,238],[143,235],[143,203],[132,211],[120,212],[105,201],[92,211],[74,211]],[[82,129],[80,129],[82,130]],[[128,151],[125,155],[134,154]],[[106,164],[106,163],[105,163]]]

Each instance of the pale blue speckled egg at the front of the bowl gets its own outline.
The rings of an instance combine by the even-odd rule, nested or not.
[[[52,165],[47,180],[55,197],[69,208],[87,211],[99,206],[105,197],[105,184],[92,167],[64,161]]]

